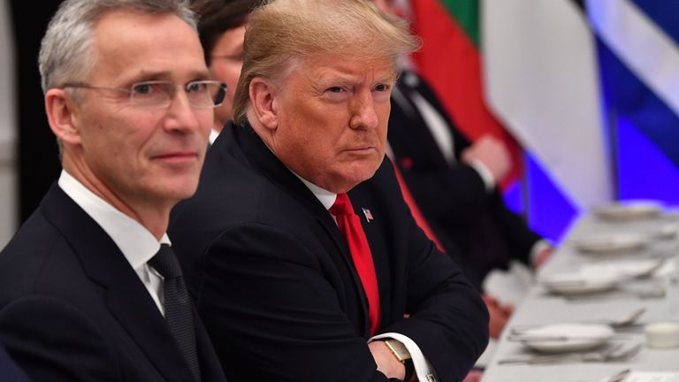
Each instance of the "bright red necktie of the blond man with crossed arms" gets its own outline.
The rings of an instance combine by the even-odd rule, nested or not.
[[[340,232],[347,239],[351,258],[361,279],[363,291],[368,297],[368,314],[370,317],[370,335],[374,335],[379,327],[379,291],[378,278],[375,276],[375,264],[365,237],[361,219],[354,213],[354,207],[347,194],[338,194],[337,200],[330,208],[330,213],[337,218]]]

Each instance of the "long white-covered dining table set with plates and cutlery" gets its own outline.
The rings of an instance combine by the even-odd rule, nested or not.
[[[646,334],[662,323],[679,339],[679,213],[651,212],[576,219],[515,307],[482,382],[679,381],[679,340]],[[590,329],[605,340],[578,343]],[[607,357],[614,351],[624,356]]]

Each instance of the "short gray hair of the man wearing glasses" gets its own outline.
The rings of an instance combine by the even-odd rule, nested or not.
[[[196,30],[195,14],[187,0],[65,0],[42,37],[38,66],[42,92],[68,81],[84,81],[95,66],[93,29],[106,13],[172,13]]]

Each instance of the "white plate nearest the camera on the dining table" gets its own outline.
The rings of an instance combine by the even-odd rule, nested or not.
[[[525,346],[539,352],[565,353],[596,348],[613,334],[608,325],[555,324],[523,331],[521,338]]]

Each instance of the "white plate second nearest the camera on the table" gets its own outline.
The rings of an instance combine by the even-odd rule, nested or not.
[[[591,294],[614,289],[621,281],[618,273],[585,276],[582,272],[558,273],[540,279],[540,283],[553,294]]]

